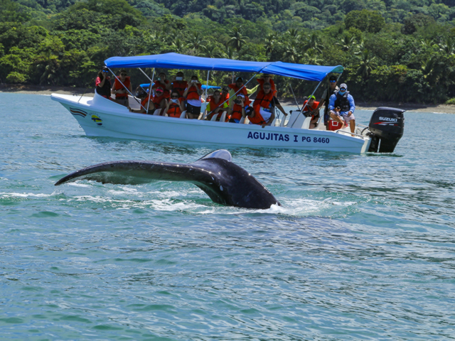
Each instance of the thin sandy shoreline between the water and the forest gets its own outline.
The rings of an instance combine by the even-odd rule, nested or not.
[[[52,87],[39,85],[0,85],[0,92],[9,92],[14,94],[73,94],[74,96],[93,97],[94,89],[92,87],[84,89],[82,87]],[[293,106],[294,101],[289,99],[280,99],[282,105]],[[299,103],[303,102],[299,99]],[[415,104],[415,103],[390,103],[390,102],[356,102],[356,109],[374,110],[378,107],[394,107],[405,109],[407,112],[436,112],[455,114],[455,105],[447,104]]]

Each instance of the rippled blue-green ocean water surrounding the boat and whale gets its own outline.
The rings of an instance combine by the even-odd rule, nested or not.
[[[1,340],[455,338],[454,115],[405,113],[392,154],[230,148],[283,205],[245,210],[187,183],[55,187],[216,147],[87,138],[47,96],[0,107]]]

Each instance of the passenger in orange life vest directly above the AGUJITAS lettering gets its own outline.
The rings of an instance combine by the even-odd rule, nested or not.
[[[272,124],[275,119],[275,108],[278,108],[284,116],[287,116],[282,104],[273,95],[272,85],[264,83],[263,88],[264,90],[260,90],[257,93],[255,102],[253,102],[254,110],[249,111],[247,115],[248,119],[250,119],[250,124],[259,124],[262,128]]]

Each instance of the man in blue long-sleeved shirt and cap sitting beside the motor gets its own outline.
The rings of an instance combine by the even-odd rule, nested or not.
[[[355,117],[354,110],[355,104],[353,97],[349,94],[348,85],[343,83],[340,85],[340,91],[334,92],[328,102],[328,109],[330,109],[330,117],[335,121],[350,126],[350,132],[355,130]]]

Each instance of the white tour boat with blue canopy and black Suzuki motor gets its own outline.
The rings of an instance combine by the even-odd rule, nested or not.
[[[166,58],[166,55],[168,58]],[[208,67],[205,67],[205,70],[217,70],[217,68],[213,66],[213,63],[212,65],[208,63],[208,60],[213,62],[215,58],[191,57],[191,59],[198,59],[198,63],[196,63],[195,60],[190,60],[188,63],[188,56],[177,55],[176,53],[168,53],[166,55],[141,56],[140,58],[145,58],[145,62],[142,64],[136,63],[137,65],[134,66],[150,67],[151,65],[151,67],[203,69],[204,65],[208,65]],[[149,59],[147,59],[147,57],[149,57]],[[156,60],[157,57],[159,58],[160,63],[151,63],[151,59]],[[185,65],[182,65],[182,63],[177,63],[176,65],[175,60],[178,60],[178,58],[186,58],[184,59]],[[111,59],[122,60],[123,63],[110,63],[109,60]],[[163,60],[172,60],[173,63],[163,65]],[[225,60],[222,61],[224,64],[221,64],[225,65]],[[132,64],[129,62],[130,60],[128,60],[128,58],[109,58],[105,63],[108,67],[126,67],[125,64]],[[228,60],[228,65],[231,65],[232,62],[266,64],[265,67],[263,65],[259,65],[260,70],[262,72],[274,73],[275,75],[281,75],[282,71],[274,70],[277,69],[277,65],[273,64],[280,63],[278,66],[284,68],[285,70],[289,67],[289,63],[256,63],[242,62],[238,60]],[[188,67],[188,64],[191,65],[191,67]],[[304,67],[309,67],[312,70],[315,66],[296,65],[296,67],[299,67],[299,72],[301,72]],[[231,69],[238,70],[238,67],[231,67]],[[225,70],[225,68],[221,70]],[[255,70],[257,70],[257,68]],[[319,75],[319,77],[322,80],[326,77],[326,75],[328,75],[328,73],[339,71],[340,67],[326,67],[326,69],[323,69],[323,71],[320,72],[321,75]],[[289,73],[289,70],[286,72]],[[323,75],[324,72],[325,75]],[[304,79],[304,77],[301,78]],[[52,94],[51,99],[60,102],[63,107],[68,109],[68,111],[73,114],[73,117],[75,117],[82,129],[84,129],[87,136],[141,139],[162,141],[172,144],[205,144],[213,145],[214,148],[216,148],[215,146],[221,145],[255,148],[286,148],[305,151],[341,151],[348,153],[365,153],[367,151],[371,151],[372,141],[373,148],[376,149],[373,151],[377,151],[381,147],[380,144],[384,144],[384,146],[386,146],[387,141],[384,141],[386,139],[390,140],[387,136],[380,136],[381,130],[379,131],[379,134],[373,134],[371,132],[372,129],[366,126],[358,126],[355,131],[356,134],[351,134],[350,131],[347,131],[346,129],[326,131],[323,130],[325,129],[325,126],[321,123],[316,127],[316,129],[309,129],[310,118],[304,117],[304,115],[299,111],[294,111],[291,115],[288,115],[289,119],[287,119],[287,121],[275,119],[271,126],[265,126],[262,128],[261,126],[252,124],[234,124],[224,122],[224,119],[221,121],[205,121],[201,119],[178,119],[173,117],[161,117],[159,115],[132,113],[129,112],[126,107],[110,101],[96,92],[94,97],[75,97],[73,95]],[[134,98],[130,97],[129,103],[133,107],[133,105],[137,102]],[[139,108],[139,104],[137,104],[137,107]],[[377,112],[379,112],[379,116]],[[376,121],[379,122],[373,122],[375,128],[380,126],[380,129],[384,129],[385,127],[386,130],[390,130],[388,126],[398,126],[398,123],[404,124],[402,113],[403,111],[400,109],[377,109],[372,117],[372,120],[374,117],[377,117]],[[401,121],[398,122],[400,119]],[[371,126],[372,122],[370,122],[370,127]],[[398,137],[398,140],[401,135]],[[395,148],[395,145],[393,148]],[[390,148],[387,151],[390,151]]]

